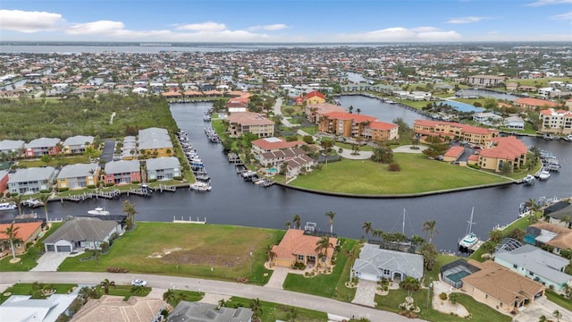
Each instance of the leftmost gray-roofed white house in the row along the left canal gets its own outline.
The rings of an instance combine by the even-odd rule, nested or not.
[[[52,166],[18,169],[8,180],[10,193],[37,193],[52,189],[55,168]]]

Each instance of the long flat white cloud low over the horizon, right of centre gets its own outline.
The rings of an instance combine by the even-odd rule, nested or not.
[[[434,27],[403,28],[393,27],[383,30],[366,31],[357,34],[340,34],[333,41],[341,42],[391,42],[391,41],[458,41],[461,35],[453,30],[440,30]]]

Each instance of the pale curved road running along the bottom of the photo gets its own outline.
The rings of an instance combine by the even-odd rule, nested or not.
[[[315,309],[321,312],[332,313],[343,317],[355,316],[369,318],[371,321],[421,321],[419,319],[404,318],[395,313],[383,310],[366,308],[359,305],[335,301],[319,296],[273,289],[264,286],[239,284],[232,282],[205,280],[199,278],[164,276],[164,275],[141,275],[141,274],[114,274],[114,273],[88,273],[88,272],[3,272],[0,275],[0,284],[16,283],[77,283],[99,284],[107,278],[116,284],[130,284],[135,278],[147,281],[147,286],[195,292],[207,292],[226,296],[240,296],[248,299],[259,298],[264,301],[272,301],[285,305],[304,309]]]

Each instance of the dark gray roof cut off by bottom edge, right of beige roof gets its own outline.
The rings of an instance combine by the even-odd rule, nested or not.
[[[216,309],[216,305],[181,301],[169,315],[169,322],[250,322],[252,309]]]

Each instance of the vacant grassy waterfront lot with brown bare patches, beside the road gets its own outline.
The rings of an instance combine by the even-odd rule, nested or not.
[[[134,231],[114,242],[108,254],[80,261],[91,254],[66,258],[60,271],[103,272],[122,267],[130,273],[197,276],[265,284],[265,246],[278,244],[283,231],[229,225],[137,222]],[[252,275],[249,252],[253,252]],[[265,275],[265,273],[268,273]]]

